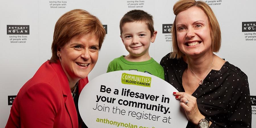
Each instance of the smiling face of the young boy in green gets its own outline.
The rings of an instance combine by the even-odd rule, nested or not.
[[[150,42],[154,42],[156,31],[151,36],[145,22],[127,22],[122,27],[121,38],[129,55],[133,57],[149,56]]]

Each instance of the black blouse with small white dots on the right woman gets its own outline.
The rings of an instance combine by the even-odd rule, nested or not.
[[[182,74],[187,63],[182,59],[170,59],[169,55],[160,62],[164,67],[165,80],[179,92],[185,92]],[[251,128],[247,75],[229,62],[224,63],[219,71],[211,70],[192,96],[197,98],[199,111],[212,122],[209,128]],[[196,127],[191,122],[187,124],[187,128]]]

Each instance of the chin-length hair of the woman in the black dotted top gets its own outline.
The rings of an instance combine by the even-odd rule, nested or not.
[[[195,0],[180,0],[177,1],[173,6],[174,15],[178,15],[180,12],[189,9],[191,7],[199,7],[202,9],[208,17],[209,25],[210,25],[210,34],[211,34],[211,49],[212,52],[218,52],[220,50],[221,45],[221,32],[220,25],[216,16],[214,15],[212,9],[205,3],[204,1],[195,1]],[[182,53],[178,47],[177,42],[177,34],[176,34],[176,18],[172,25],[172,50],[170,57],[171,58],[181,58],[184,53]]]

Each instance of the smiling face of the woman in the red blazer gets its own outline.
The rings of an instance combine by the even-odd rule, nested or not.
[[[95,35],[74,36],[57,54],[69,83],[86,78],[98,60],[99,39]]]

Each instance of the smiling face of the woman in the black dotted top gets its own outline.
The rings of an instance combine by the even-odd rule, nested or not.
[[[191,7],[176,16],[178,47],[187,56],[211,52],[211,34],[208,17],[198,7]]]

